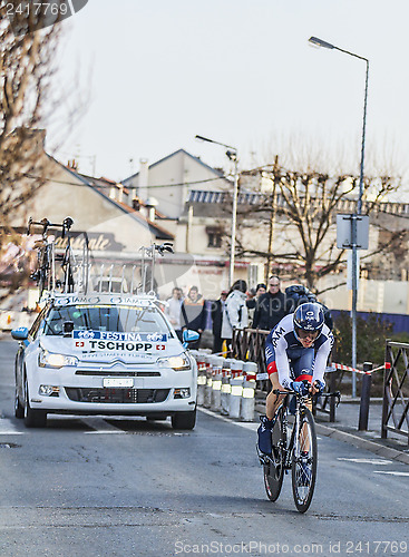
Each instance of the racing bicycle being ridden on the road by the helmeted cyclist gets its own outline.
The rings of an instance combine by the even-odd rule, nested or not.
[[[318,446],[315,422],[311,410],[311,393],[305,395],[295,391],[274,390],[277,397],[293,394],[295,399],[294,422],[292,429],[289,422],[289,397],[275,412],[272,428],[271,456],[260,452],[260,463],[263,466],[264,487],[267,498],[276,501],[284,480],[284,472],[291,470],[292,492],[295,507],[300,512],[305,512],[312,501],[317,481]],[[323,393],[320,397],[335,397],[338,404],[339,392]],[[290,427],[289,427],[290,426]]]

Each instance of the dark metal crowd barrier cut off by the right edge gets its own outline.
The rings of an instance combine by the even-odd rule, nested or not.
[[[409,344],[387,341],[384,361],[381,436],[393,431],[409,444]]]

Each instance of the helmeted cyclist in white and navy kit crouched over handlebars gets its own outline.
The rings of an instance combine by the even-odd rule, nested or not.
[[[272,391],[266,398],[266,416],[260,417],[257,433],[261,452],[271,455],[275,411],[285,398],[276,397],[273,391],[321,393],[325,387],[323,375],[332,346],[333,335],[324,323],[321,305],[315,303],[299,305],[294,313],[285,315],[271,331],[265,342],[265,359]]]

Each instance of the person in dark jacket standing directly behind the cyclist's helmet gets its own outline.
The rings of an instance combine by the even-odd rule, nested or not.
[[[256,303],[253,329],[271,331],[274,326],[291,312],[291,304],[285,294],[280,290],[280,278],[275,275],[269,278],[269,290],[262,294]]]

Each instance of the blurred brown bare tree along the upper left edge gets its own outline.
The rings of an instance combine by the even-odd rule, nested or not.
[[[46,29],[42,16],[13,11],[0,2],[0,246],[12,215],[41,187],[47,157],[39,131],[52,106],[49,89],[59,26]]]

